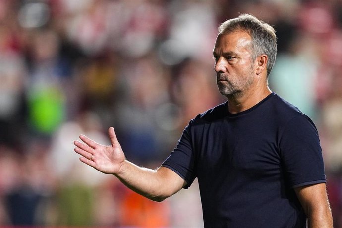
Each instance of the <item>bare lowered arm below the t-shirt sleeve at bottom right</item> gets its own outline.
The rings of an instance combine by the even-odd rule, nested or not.
[[[333,228],[325,183],[294,189],[308,217],[308,228]]]

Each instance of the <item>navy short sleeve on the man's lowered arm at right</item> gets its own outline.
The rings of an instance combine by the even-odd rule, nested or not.
[[[309,117],[301,114],[288,121],[279,146],[285,178],[292,188],[326,182],[318,132]]]

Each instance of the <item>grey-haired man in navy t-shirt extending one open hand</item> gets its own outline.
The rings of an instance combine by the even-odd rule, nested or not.
[[[192,119],[158,169],[127,161],[113,127],[111,146],[81,135],[75,151],[155,201],[197,177],[205,227],[332,228],[317,130],[268,88],[276,49],[274,29],[251,15],[219,27],[214,69],[228,101]]]

